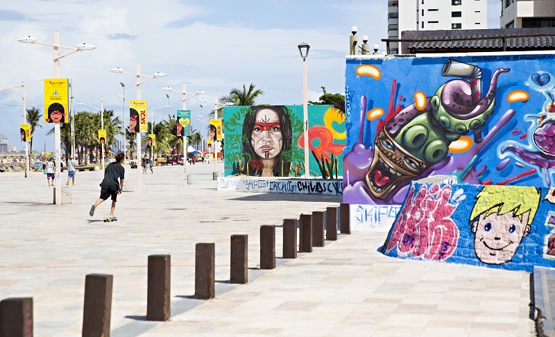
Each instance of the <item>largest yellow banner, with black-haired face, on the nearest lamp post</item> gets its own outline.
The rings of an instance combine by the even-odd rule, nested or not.
[[[44,80],[44,123],[67,123],[67,78]]]

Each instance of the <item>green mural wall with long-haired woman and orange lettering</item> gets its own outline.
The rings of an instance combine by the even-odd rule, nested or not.
[[[309,171],[322,176],[321,162],[341,176],[345,116],[330,105],[309,105]],[[304,175],[302,105],[225,107],[224,175],[294,177]],[[323,159],[323,160],[322,160]],[[328,169],[328,171],[330,171]],[[297,174],[296,174],[297,173]]]

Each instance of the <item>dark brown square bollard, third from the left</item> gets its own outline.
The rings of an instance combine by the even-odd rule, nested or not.
[[[148,288],[146,295],[146,320],[169,320],[171,257],[169,255],[148,256]]]

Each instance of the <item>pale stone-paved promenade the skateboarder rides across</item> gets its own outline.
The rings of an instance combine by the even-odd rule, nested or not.
[[[114,275],[111,336],[535,336],[529,274],[400,260],[385,233],[353,232],[259,270],[259,227],[338,206],[336,196],[216,191],[214,163],[156,167],[93,217],[103,173],[78,172],[71,205],[46,176],[0,173],[0,300],[33,297],[35,336],[80,336],[85,275]],[[222,168],[222,164],[219,164]],[[128,180],[136,170],[126,169]],[[67,173],[62,173],[65,186]],[[230,236],[248,234],[249,283],[229,284]],[[194,250],[216,243],[216,298],[194,300]],[[172,317],[147,322],[146,263],[171,255]]]

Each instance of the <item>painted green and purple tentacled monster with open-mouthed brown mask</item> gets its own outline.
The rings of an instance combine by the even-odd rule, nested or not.
[[[481,97],[481,70],[472,64],[447,60],[443,76],[469,78],[449,80],[432,97],[405,107],[378,123],[374,155],[364,179],[370,193],[386,199],[407,180],[418,177],[443,161],[449,145],[472,130],[481,142],[481,127],[493,114],[497,77],[510,69],[499,68],[488,92]]]

